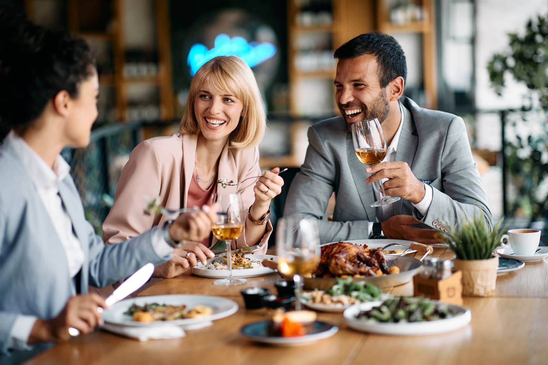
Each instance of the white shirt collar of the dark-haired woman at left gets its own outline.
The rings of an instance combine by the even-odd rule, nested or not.
[[[32,178],[32,182],[37,189],[53,188],[59,190],[59,184],[67,176],[70,171],[68,165],[61,155],[55,159],[54,170],[30,147],[28,144],[17,135],[13,130],[5,137],[4,143],[8,143],[17,152],[28,174]]]

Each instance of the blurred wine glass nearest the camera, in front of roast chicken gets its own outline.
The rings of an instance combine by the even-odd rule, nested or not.
[[[301,275],[319,264],[319,233],[316,219],[281,218],[276,230],[278,270],[295,282],[295,309],[301,309]]]

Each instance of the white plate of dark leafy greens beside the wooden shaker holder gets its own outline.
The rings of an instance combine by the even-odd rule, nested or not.
[[[420,336],[455,331],[470,323],[470,309],[424,297],[393,297],[362,303],[344,311],[347,325],[357,331]]]

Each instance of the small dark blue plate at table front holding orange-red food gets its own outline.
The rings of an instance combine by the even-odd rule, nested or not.
[[[339,327],[330,323],[316,321],[313,323],[311,333],[305,336],[299,337],[278,337],[270,336],[267,331],[267,327],[270,321],[260,321],[249,323],[249,325],[243,326],[240,332],[248,339],[260,342],[264,344],[274,346],[302,346],[310,344],[314,341],[331,337],[337,331]]]

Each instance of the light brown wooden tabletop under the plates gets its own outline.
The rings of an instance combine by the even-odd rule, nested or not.
[[[441,258],[452,252],[436,250]],[[214,286],[214,279],[181,275],[164,279],[141,293],[208,294],[235,300],[236,314],[213,326],[187,331],[175,340],[139,342],[103,331],[73,338],[33,358],[28,364],[546,364],[548,359],[548,259],[526,263],[499,276],[491,298],[465,298],[470,325],[424,337],[389,337],[355,332],[339,314],[319,313],[335,323],[333,337],[302,347],[254,344],[239,334],[246,323],[265,319],[264,310],[247,311],[239,293],[245,287],[274,289],[278,275],[248,279],[246,285]],[[412,282],[389,290],[412,292]],[[275,290],[273,292],[276,292]]]

